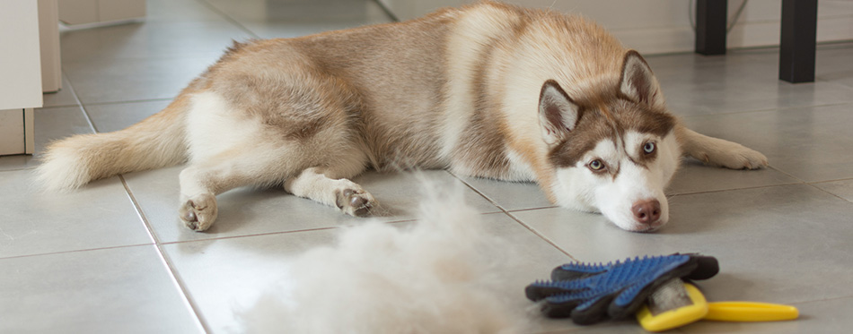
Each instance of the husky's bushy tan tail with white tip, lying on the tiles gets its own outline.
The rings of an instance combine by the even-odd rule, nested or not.
[[[182,93],[163,111],[124,130],[52,142],[37,179],[48,191],[68,191],[105,177],[180,164],[188,157],[189,97]]]

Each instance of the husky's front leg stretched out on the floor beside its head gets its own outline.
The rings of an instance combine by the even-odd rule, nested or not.
[[[756,150],[732,141],[708,137],[682,125],[675,128],[684,155],[706,165],[732,169],[757,169],[767,166],[767,157]]]

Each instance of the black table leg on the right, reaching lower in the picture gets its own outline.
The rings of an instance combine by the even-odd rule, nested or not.
[[[783,0],[779,79],[793,83],[814,81],[816,41],[817,0]]]

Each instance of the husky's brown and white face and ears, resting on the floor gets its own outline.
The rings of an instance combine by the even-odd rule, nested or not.
[[[624,57],[612,90],[575,99],[557,81],[542,86],[542,135],[557,172],[551,189],[562,206],[602,212],[629,231],[653,231],[669,220],[664,186],[681,155],[676,120],[636,51]]]

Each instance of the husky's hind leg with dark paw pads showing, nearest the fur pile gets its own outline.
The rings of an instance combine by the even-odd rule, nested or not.
[[[336,179],[339,174],[330,168],[307,168],[298,176],[287,179],[285,190],[299,197],[335,206],[350,216],[369,215],[376,202],[374,196],[346,178]],[[358,173],[346,174],[355,176]]]

